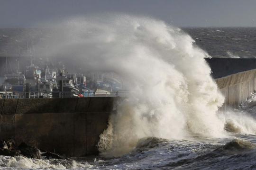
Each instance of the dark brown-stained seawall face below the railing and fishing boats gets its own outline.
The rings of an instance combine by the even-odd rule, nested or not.
[[[118,98],[0,99],[0,139],[41,150],[83,156],[97,154]]]

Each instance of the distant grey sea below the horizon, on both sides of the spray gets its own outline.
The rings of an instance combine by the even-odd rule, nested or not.
[[[212,57],[256,57],[256,27],[182,29]],[[9,56],[18,56],[18,51],[29,55],[33,42],[47,42],[50,37],[49,31],[43,29],[0,28],[0,56],[5,51]]]

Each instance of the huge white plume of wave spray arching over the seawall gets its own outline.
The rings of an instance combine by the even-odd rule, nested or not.
[[[116,72],[130,91],[101,135],[101,152],[122,155],[148,136],[223,135],[216,111],[224,98],[207,54],[181,29],[127,15],[75,18],[54,27],[48,55],[69,56],[84,71]]]

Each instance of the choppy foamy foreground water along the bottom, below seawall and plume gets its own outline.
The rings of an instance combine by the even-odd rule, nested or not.
[[[104,159],[99,156],[74,158],[75,161],[35,160],[0,156],[0,169],[70,169],[70,170],[254,170],[256,136],[230,134],[236,139],[194,137],[170,141],[144,139],[127,155]],[[199,142],[200,141],[200,142]]]

